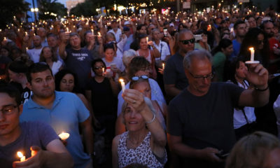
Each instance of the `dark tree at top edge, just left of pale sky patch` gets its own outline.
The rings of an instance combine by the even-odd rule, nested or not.
[[[67,15],[67,8],[62,3],[48,0],[42,0],[39,8],[39,18],[41,20],[55,19],[58,16],[63,17]],[[55,14],[55,15],[53,15]]]

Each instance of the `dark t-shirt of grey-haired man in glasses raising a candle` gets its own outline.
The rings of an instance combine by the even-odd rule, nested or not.
[[[192,148],[228,153],[235,144],[233,109],[243,90],[232,83],[211,83],[202,97],[183,90],[169,104],[167,132]]]

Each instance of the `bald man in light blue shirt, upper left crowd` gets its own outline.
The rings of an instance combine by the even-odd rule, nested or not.
[[[27,54],[29,55],[30,59],[36,63],[39,62],[41,50],[43,49],[41,45],[41,37],[40,36],[34,36],[33,37],[33,44],[34,48],[31,50],[27,50]]]

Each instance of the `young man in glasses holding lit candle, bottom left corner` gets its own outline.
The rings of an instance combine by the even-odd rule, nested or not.
[[[20,123],[22,104],[17,88],[0,84],[0,109],[1,168],[73,167],[71,155],[49,125]],[[21,159],[18,152],[24,155]]]

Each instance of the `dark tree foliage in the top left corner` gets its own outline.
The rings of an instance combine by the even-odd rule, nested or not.
[[[1,0],[0,27],[3,29],[3,27],[13,22],[13,16],[20,18],[27,10],[29,10],[29,3],[24,0]]]

